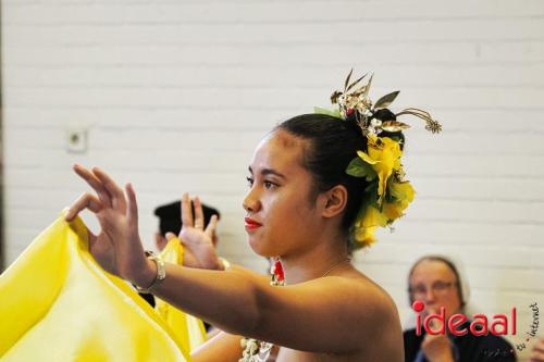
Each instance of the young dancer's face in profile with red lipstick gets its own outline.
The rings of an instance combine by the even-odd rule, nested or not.
[[[310,200],[313,178],[301,165],[306,142],[280,129],[254,153],[244,209],[249,245],[260,255],[304,253],[319,233],[321,217]]]

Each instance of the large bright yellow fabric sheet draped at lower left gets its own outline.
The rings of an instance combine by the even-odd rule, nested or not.
[[[170,327],[59,217],[0,275],[0,360],[189,361]]]

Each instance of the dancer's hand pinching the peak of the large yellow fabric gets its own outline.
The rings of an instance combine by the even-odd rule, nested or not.
[[[100,232],[88,230],[89,250],[108,272],[146,287],[154,278],[153,262],[147,260],[138,233],[138,207],[131,184],[124,191],[98,167],[87,170],[74,165],[74,171],[95,191],[84,192],[69,209],[65,220],[72,221],[88,209],[97,216]]]

